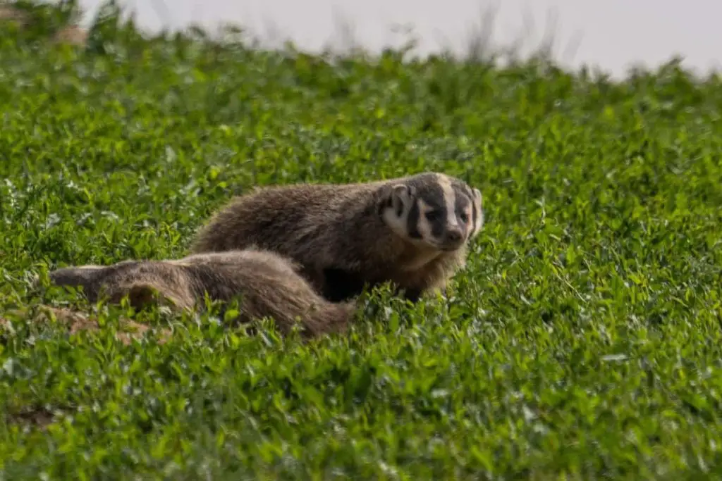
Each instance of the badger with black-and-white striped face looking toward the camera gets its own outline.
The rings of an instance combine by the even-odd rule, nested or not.
[[[215,213],[191,252],[258,245],[298,262],[329,301],[387,281],[417,301],[464,267],[468,242],[483,224],[479,189],[436,172],[259,187]]]

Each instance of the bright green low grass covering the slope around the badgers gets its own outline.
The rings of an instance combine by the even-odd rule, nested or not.
[[[484,193],[450,298],[377,292],[304,345],[122,308],[0,333],[0,479],[699,480],[722,475],[722,83],[388,52],[0,40],[0,312],[32,281],[181,257],[253,185],[422,170]],[[1,314],[0,314],[1,315]],[[32,415],[45,413],[45,423]]]

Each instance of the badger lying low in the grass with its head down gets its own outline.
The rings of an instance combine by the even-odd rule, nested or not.
[[[92,302],[117,303],[128,296],[140,309],[170,301],[175,309],[199,308],[205,294],[214,301],[239,300],[240,321],[272,317],[288,332],[297,317],[304,335],[343,332],[352,317],[350,303],[332,304],[298,273],[298,266],[272,252],[248,249],[190,255],[180,260],[124,260],[113,265],[82,265],[50,273],[58,286],[82,286]]]

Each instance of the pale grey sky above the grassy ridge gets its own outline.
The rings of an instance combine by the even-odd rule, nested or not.
[[[100,0],[80,0],[95,14]],[[482,25],[484,9],[497,8],[495,43],[521,35],[523,51],[555,32],[554,56],[570,66],[598,65],[615,76],[630,63],[656,65],[674,54],[701,72],[722,66],[722,2],[714,0],[121,0],[149,30],[234,22],[261,39],[293,40],[303,50],[334,43],[339,25],[353,27],[357,43],[372,51],[399,45],[392,26],[414,25],[428,53],[444,44],[463,45]],[[337,42],[335,42],[337,43]]]

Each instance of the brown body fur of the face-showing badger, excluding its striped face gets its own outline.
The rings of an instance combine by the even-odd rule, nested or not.
[[[191,252],[243,249],[249,245],[299,262],[302,275],[326,299],[344,301],[364,284],[391,281],[416,300],[446,282],[466,262],[464,243],[444,251],[401,236],[388,227],[380,209],[391,206],[394,186],[423,195],[446,182],[463,191],[481,211],[481,195],[454,177],[434,172],[355,184],[295,184],[256,188],[236,197],[199,230]],[[476,199],[476,200],[474,200]]]

